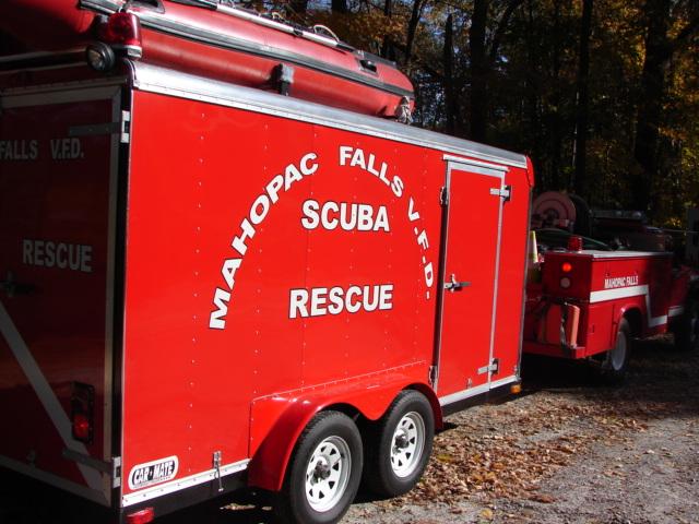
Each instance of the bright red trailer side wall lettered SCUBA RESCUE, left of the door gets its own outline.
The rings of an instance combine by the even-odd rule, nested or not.
[[[125,475],[170,455],[178,477],[214,451],[246,460],[259,398],[406,365],[427,383],[440,154],[149,93],[133,104]],[[256,434],[274,422],[256,418]]]

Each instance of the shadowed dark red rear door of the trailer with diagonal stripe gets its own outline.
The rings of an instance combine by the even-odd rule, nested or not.
[[[70,128],[110,123],[112,102],[81,96],[52,104],[48,94],[42,105],[2,110],[0,418],[12,422],[0,432],[0,453],[84,485],[61,456],[78,449],[70,427],[61,436],[57,426],[70,417],[71,384],[94,386],[94,439],[82,452],[99,460],[110,453],[104,407],[112,155],[110,134],[70,136]]]

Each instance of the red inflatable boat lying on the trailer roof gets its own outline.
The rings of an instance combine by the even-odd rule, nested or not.
[[[3,0],[0,29],[29,50],[100,40],[150,63],[379,117],[404,115],[413,103],[413,86],[393,62],[323,26],[229,1]]]

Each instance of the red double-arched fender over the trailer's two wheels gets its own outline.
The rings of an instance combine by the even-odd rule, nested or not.
[[[414,377],[395,373],[370,376],[358,382],[342,382],[325,388],[313,388],[289,396],[271,396],[253,401],[251,407],[251,461],[248,484],[270,491],[279,491],[284,483],[286,466],[294,445],[308,422],[323,409],[336,408],[350,415],[378,420],[403,390],[423,393],[433,406],[435,428],[442,427],[439,400],[426,383],[414,382]],[[269,421],[272,422],[270,429]],[[257,442],[257,436],[263,440]]]

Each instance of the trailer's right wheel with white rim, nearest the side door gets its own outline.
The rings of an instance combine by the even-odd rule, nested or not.
[[[383,497],[410,491],[427,466],[434,437],[429,401],[417,391],[401,392],[366,439],[365,485]]]

